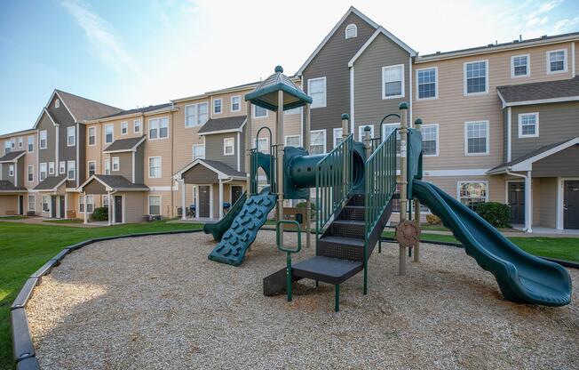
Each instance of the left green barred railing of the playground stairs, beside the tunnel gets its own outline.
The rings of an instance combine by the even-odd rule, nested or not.
[[[315,173],[316,245],[321,230],[340,209],[353,188],[353,135],[350,134],[318,162]]]

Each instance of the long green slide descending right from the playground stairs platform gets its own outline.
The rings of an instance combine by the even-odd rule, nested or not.
[[[477,213],[434,185],[414,180],[412,195],[438,215],[481,268],[491,272],[504,298],[564,306],[571,301],[567,269],[521,250]]]

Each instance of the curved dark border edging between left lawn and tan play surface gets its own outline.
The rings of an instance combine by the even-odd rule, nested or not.
[[[36,359],[36,351],[34,343],[32,342],[32,334],[28,326],[28,317],[26,314],[26,305],[32,297],[34,288],[40,286],[42,277],[51,273],[51,270],[60,264],[68,253],[74,252],[86,245],[98,243],[107,240],[123,239],[127,237],[154,237],[156,235],[172,235],[172,234],[192,234],[202,232],[202,229],[194,230],[174,230],[174,231],[156,231],[139,234],[126,234],[116,237],[95,237],[93,239],[84,240],[75,245],[68,245],[57,253],[51,260],[44,263],[44,265],[37,269],[20,289],[14,302],[10,306],[10,318],[12,323],[12,347],[14,362],[17,370],[39,370],[38,360]]]

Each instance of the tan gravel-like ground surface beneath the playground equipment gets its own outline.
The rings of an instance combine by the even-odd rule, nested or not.
[[[263,277],[285,265],[274,245],[261,231],[237,268],[209,261],[215,242],[202,233],[71,253],[28,303],[41,368],[579,367],[577,269],[571,304],[518,305],[463,249],[423,245],[399,277],[398,246],[385,244],[369,294],[351,278],[335,313],[333,286],[297,283],[293,302],[263,296]]]

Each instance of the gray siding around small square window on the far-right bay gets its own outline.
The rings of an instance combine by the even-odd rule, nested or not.
[[[519,114],[539,112],[539,137],[519,139]],[[537,104],[512,108],[512,159],[552,142],[579,136],[579,102]]]

